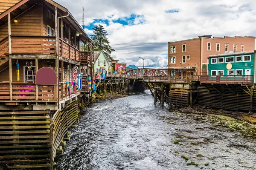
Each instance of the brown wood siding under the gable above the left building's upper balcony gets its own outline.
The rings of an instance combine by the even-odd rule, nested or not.
[[[12,35],[43,35],[43,7],[36,5],[29,11],[11,21]],[[8,24],[0,28],[0,40],[8,36]]]

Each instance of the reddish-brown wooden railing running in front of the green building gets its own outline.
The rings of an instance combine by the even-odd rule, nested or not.
[[[200,84],[253,84],[253,75],[201,75]]]

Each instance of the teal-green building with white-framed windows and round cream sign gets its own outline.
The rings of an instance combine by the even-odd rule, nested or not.
[[[220,78],[239,78],[241,75],[252,75],[255,82],[255,52],[235,52],[210,55],[208,58],[208,75]],[[225,76],[225,75],[228,75]],[[235,76],[234,76],[235,75]]]

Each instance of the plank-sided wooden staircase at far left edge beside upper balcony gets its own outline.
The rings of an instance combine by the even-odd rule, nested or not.
[[[4,63],[9,61],[9,39],[8,36],[0,41],[0,70]]]

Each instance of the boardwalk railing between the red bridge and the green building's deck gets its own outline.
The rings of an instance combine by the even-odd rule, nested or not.
[[[191,83],[192,81],[199,81],[199,76],[190,76],[190,77],[144,76],[143,81],[162,82],[162,83]]]

